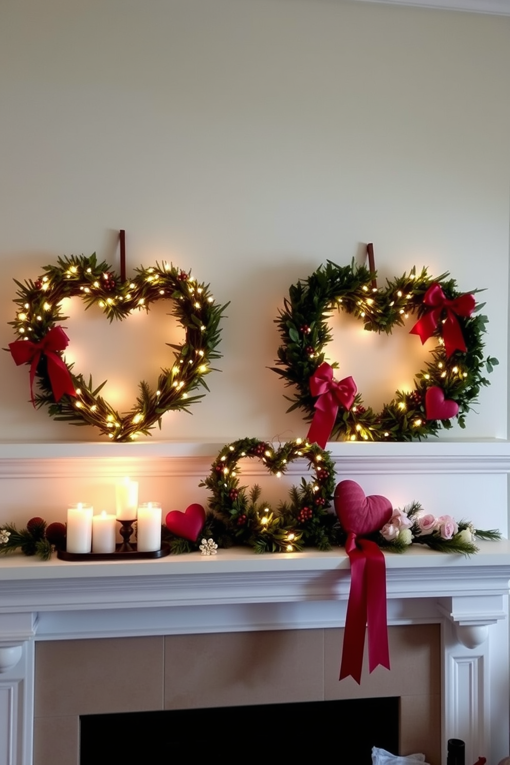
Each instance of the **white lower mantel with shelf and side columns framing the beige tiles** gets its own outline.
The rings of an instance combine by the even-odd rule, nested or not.
[[[440,623],[443,749],[466,762],[508,754],[510,543],[472,558],[412,549],[386,555],[388,624]],[[154,561],[0,562],[0,761],[30,765],[34,641],[342,627],[343,550],[254,555],[245,549]]]

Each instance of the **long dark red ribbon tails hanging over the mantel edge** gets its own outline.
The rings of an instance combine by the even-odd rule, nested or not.
[[[347,537],[346,552],[351,563],[351,588],[343,633],[342,665],[339,679],[361,682],[365,628],[369,630],[369,671],[379,664],[390,668],[388,623],[386,620],[386,563],[375,542]]]

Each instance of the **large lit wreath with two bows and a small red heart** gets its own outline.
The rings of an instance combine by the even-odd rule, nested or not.
[[[350,391],[344,393],[343,405],[337,404],[328,435],[350,441],[411,441],[437,435],[441,427],[451,428],[453,417],[464,428],[465,415],[476,403],[481,386],[489,385],[482,372],[492,372],[498,360],[483,358],[488,319],[477,311],[484,304],[457,291],[456,282],[448,277],[448,273],[430,277],[426,268],[417,274],[413,268],[378,289],[373,286],[375,273],[365,266],[327,261],[309,278],[292,285],[275,320],[281,345],[278,366],[272,367],[286,386],[297,389],[294,396],[286,396],[291,401],[287,411],[301,409],[312,420],[320,401],[317,386],[316,395],[312,392],[314,376],[322,373],[333,381],[338,364],[325,363],[324,349],[331,340],[328,317],[335,308],[361,319],[365,330],[386,334],[403,325],[410,314],[417,314],[411,333],[419,334],[422,342],[434,336],[437,346],[426,368],[414,376],[414,390],[397,391],[381,412],[373,412],[363,405],[352,378],[346,378],[342,382],[350,384]],[[313,440],[310,433],[308,438]],[[327,435],[318,439],[321,446],[326,441]]]

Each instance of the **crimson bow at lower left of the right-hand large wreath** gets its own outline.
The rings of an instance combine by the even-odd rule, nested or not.
[[[321,449],[326,448],[339,406],[349,410],[357,391],[352,377],[344,377],[336,382],[333,379],[333,367],[326,361],[317,367],[310,377],[310,393],[319,397],[314,404],[316,411],[307,435],[310,443],[317,442]]]

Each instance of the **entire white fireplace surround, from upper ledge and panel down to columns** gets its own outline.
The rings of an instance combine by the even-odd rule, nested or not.
[[[186,455],[175,454],[172,445],[150,446],[135,453],[121,450],[115,460],[105,460],[98,444],[90,451],[76,446],[76,454],[67,449],[66,457],[55,449],[50,460],[21,457],[14,449],[0,459],[0,479],[11,496],[21,491],[29,496],[52,480],[65,502],[70,483],[102,481],[111,489],[120,475],[132,474],[151,485],[163,486],[164,480],[177,496],[178,487],[186,487],[186,494],[187,483],[196,486],[216,452],[206,444],[191,454],[188,447]],[[419,499],[430,508],[434,502],[436,512],[448,509],[457,518],[473,519],[482,528],[497,526],[506,534],[506,442],[333,444],[333,454],[337,477],[359,480],[368,493],[385,493],[395,505],[402,505],[402,498]],[[250,481],[258,480],[257,470],[245,471]],[[290,477],[294,483],[297,474],[296,467]],[[179,506],[178,500],[172,505]],[[27,513],[22,517],[26,520]],[[479,546],[479,555],[469,559],[428,549],[386,555],[391,628],[440,630],[443,762],[448,737],[466,741],[467,763],[481,754],[490,763],[508,755],[510,546],[506,540]],[[44,563],[11,555],[0,561],[0,578],[0,761],[8,765],[43,765],[33,760],[34,665],[41,651],[89,639],[96,646],[114,638],[163,636],[164,642],[172,636],[216,636],[221,642],[223,636],[259,633],[324,634],[327,642],[336,634],[339,662],[336,628],[345,623],[350,581],[342,549],[290,555],[232,549],[213,558],[193,554],[93,563]],[[332,679],[330,668],[327,674],[317,687],[320,698],[331,698],[331,684],[342,685],[337,674]],[[362,695],[366,682],[363,678],[361,688],[352,683],[352,695]]]

